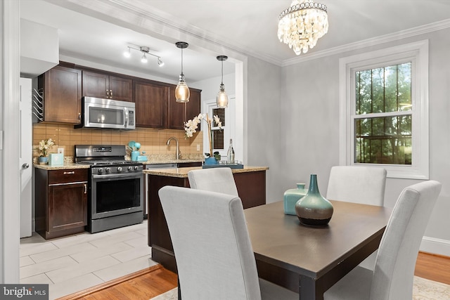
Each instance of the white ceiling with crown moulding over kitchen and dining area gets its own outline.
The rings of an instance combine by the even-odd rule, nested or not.
[[[450,26],[449,0],[323,0],[328,34],[308,53],[296,56],[276,36],[278,14],[290,0],[20,0],[21,18],[58,28],[61,60],[109,65],[176,82],[184,50],[186,82],[219,77],[218,55],[227,55],[224,74],[246,55],[275,65],[332,51],[358,41],[439,24]],[[127,45],[150,47],[122,55]],[[78,63],[82,64],[82,63]]]

